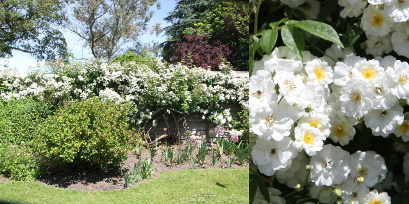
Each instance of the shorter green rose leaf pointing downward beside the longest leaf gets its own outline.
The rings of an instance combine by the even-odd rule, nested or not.
[[[301,59],[303,58],[303,50],[304,50],[304,37],[303,34],[295,28],[293,25],[283,25],[281,29],[281,38],[287,47],[289,47],[292,53],[299,56]]]

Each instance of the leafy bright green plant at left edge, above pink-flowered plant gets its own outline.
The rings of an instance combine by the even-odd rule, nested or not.
[[[30,97],[0,99],[0,143],[31,143],[34,130],[52,112]]]

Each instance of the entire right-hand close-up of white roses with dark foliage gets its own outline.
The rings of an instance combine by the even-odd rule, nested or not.
[[[409,203],[409,2],[251,6],[250,203]]]

